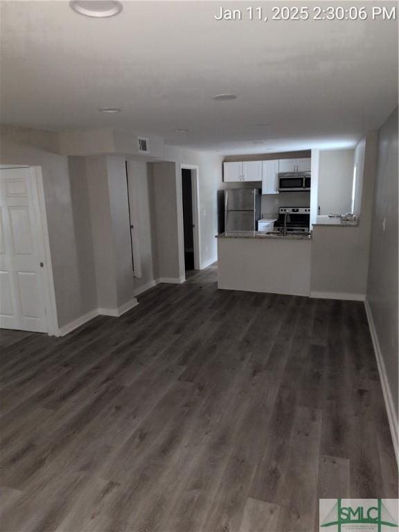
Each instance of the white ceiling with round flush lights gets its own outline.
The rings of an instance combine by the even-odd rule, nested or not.
[[[131,128],[233,154],[351,146],[397,105],[397,21],[215,21],[219,2],[123,5],[92,19],[66,1],[2,1],[1,122]],[[349,5],[371,13],[373,2]],[[212,100],[227,92],[238,98]]]

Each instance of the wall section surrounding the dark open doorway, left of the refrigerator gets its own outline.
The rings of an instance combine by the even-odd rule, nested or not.
[[[166,146],[169,161],[143,163],[127,161],[130,207],[135,209],[139,232],[141,278],[135,278],[136,292],[161,279],[181,280],[184,269],[177,238],[179,217],[180,165],[197,165],[200,211],[201,267],[217,260],[217,193],[222,188],[222,157]]]

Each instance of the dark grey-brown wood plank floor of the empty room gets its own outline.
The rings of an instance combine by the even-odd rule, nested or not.
[[[1,332],[3,532],[311,532],[321,497],[398,497],[362,303],[215,266],[139,302]]]

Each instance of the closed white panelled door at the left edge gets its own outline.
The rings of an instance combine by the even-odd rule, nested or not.
[[[47,332],[34,195],[30,168],[0,170],[0,327]]]

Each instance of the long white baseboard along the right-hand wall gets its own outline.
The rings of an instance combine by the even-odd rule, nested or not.
[[[373,314],[371,314],[371,308],[369,305],[369,301],[367,301],[367,299],[364,301],[364,307],[366,308],[366,315],[369,321],[371,339],[373,340],[375,358],[377,359],[378,373],[380,374],[382,393],[384,395],[385,408],[387,409],[389,428],[391,429],[393,449],[395,450],[396,461],[398,461],[398,452],[399,452],[398,418],[396,418],[396,414],[395,414],[395,407],[393,405],[393,397],[392,397],[391,389],[389,388],[387,370],[385,369],[384,358],[382,357],[381,348],[380,348],[380,342],[378,341],[377,331],[375,330]]]

